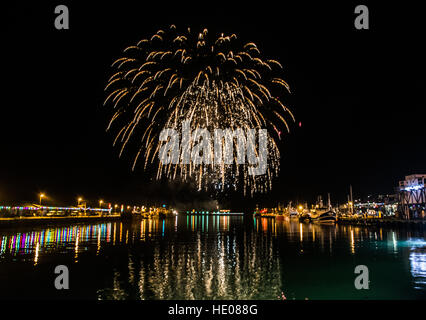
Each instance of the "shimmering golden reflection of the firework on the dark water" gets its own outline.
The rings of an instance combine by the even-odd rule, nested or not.
[[[128,284],[138,286],[140,299],[256,299],[277,295],[280,269],[271,243],[256,234],[243,237],[240,243],[236,235],[198,234],[195,242],[185,246],[173,243],[155,247],[152,261],[138,256],[129,261],[141,272],[129,277]]]

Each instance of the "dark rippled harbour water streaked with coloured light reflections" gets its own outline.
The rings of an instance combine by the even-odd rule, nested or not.
[[[56,290],[54,269],[69,268]],[[369,268],[356,290],[354,269]],[[423,229],[229,216],[0,230],[1,299],[426,299]]]

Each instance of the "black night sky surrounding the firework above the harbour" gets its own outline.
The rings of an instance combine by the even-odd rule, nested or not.
[[[105,132],[111,63],[126,46],[170,24],[236,33],[284,66],[292,88],[285,102],[297,123],[284,137],[273,191],[244,203],[313,201],[327,192],[343,202],[349,184],[355,198],[386,194],[405,175],[426,172],[426,20],[419,8],[156,3],[20,1],[6,10],[0,203],[36,202],[40,191],[64,204],[77,196],[132,203],[207,197],[132,172],[131,159],[118,158]],[[59,4],[70,10],[69,30],[54,28]],[[369,6],[370,30],[355,30],[357,4]]]

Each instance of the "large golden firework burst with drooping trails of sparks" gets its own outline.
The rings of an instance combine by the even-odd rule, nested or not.
[[[263,60],[254,43],[242,44],[235,34],[209,37],[207,29],[178,33],[172,25],[126,48],[113,67],[115,72],[105,88],[104,104],[112,104],[115,111],[108,129],[113,124],[118,127],[114,145],[121,144],[120,155],[130,143],[137,145],[133,168],[141,154],[145,168],[153,163],[161,147],[161,130],[180,132],[184,120],[189,120],[191,130],[210,132],[267,128],[265,175],[248,175],[246,164],[159,162],[157,178],[195,179],[199,189],[236,187],[238,179],[243,181],[244,192],[271,188],[279,169],[280,128],[284,125],[289,130],[284,114],[294,120],[280,100],[289,86],[279,78],[282,66],[278,61]]]

